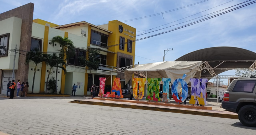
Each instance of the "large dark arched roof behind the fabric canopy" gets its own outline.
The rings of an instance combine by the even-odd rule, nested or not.
[[[211,47],[196,50],[181,56],[175,61],[224,61],[224,60],[256,60],[256,53],[250,50],[237,47]],[[209,63],[212,68],[220,63]],[[223,63],[218,68],[249,68],[252,62]],[[215,70],[215,74],[220,74],[226,70]],[[209,72],[201,75],[210,75]]]

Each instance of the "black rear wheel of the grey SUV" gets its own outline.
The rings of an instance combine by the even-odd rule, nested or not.
[[[239,120],[245,126],[256,127],[256,106],[243,106],[238,112]]]

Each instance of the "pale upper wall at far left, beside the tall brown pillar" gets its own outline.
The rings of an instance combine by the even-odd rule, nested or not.
[[[16,44],[17,48],[20,48],[21,21],[22,19],[17,17],[11,17],[0,21],[0,35],[10,33],[8,49],[15,49]],[[0,65],[0,69],[12,70],[15,52],[7,50],[7,53],[7,56],[0,57],[0,61],[2,63]],[[18,69],[18,59],[20,55],[22,54],[16,54],[15,70]]]

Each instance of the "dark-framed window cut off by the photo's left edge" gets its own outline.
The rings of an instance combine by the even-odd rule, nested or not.
[[[10,34],[0,35],[0,55],[6,55],[8,52],[8,44],[9,44],[9,36]]]

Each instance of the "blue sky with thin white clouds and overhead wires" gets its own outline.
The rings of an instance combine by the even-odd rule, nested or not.
[[[40,18],[58,25],[79,21],[100,25],[108,23],[108,21],[111,20],[124,21],[153,15],[200,1],[203,0],[0,0],[0,13],[32,2],[34,3],[33,19]],[[138,35],[144,32],[144,30],[154,28],[147,31],[150,32],[176,25],[244,1],[245,0],[208,0],[176,11],[124,23],[136,28]],[[165,61],[174,61],[182,55],[209,47],[239,47],[256,52],[256,46],[254,46],[256,43],[255,7],[256,3],[197,23],[196,25],[137,41],[135,48],[135,64],[137,64],[138,61],[140,64],[162,61],[164,50],[167,48],[173,48],[173,50],[165,55]],[[198,14],[193,15],[196,13]],[[165,26],[155,28],[161,25]],[[168,31],[178,26],[181,25],[137,36],[136,38],[139,39]],[[235,72],[231,70],[220,75],[235,75]]]

